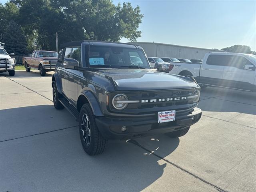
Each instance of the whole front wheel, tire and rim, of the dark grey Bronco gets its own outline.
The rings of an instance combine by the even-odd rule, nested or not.
[[[106,139],[100,134],[90,104],[84,104],[79,114],[79,134],[84,151],[88,155],[101,154]]]

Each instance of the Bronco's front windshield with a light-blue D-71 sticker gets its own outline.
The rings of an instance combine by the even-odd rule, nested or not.
[[[90,46],[89,47],[90,67],[142,67],[150,68],[144,52],[140,49]]]

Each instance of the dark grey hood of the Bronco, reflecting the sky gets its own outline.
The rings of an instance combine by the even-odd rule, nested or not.
[[[194,88],[197,85],[184,77],[141,69],[107,69],[96,73],[113,79],[118,90],[164,90]]]

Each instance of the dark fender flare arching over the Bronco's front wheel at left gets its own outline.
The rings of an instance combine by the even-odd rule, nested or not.
[[[104,116],[101,111],[100,104],[99,104],[98,100],[96,99],[96,97],[94,96],[94,94],[92,94],[92,92],[86,90],[85,92],[80,94],[80,96],[86,97],[86,99],[88,100],[88,103],[90,104],[90,106],[92,108],[92,112],[95,116]],[[78,100],[79,100],[79,97],[78,97]],[[77,104],[78,104],[78,102],[77,102]]]

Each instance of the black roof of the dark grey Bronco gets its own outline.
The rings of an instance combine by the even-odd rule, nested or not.
[[[111,42],[111,41],[93,41],[93,40],[81,40],[81,41],[72,41],[72,42],[67,42],[67,43],[63,43],[60,45],[60,49],[61,48],[65,48],[65,47],[74,47],[74,46],[80,46],[83,42],[92,42],[92,44],[97,44],[97,45],[110,45],[110,44],[119,44],[119,45],[123,45],[125,47],[131,47],[131,46],[135,46],[135,47],[140,47],[138,45],[133,45],[133,44],[127,44],[127,43],[120,43],[120,42]],[[133,47],[134,48],[134,47]]]

